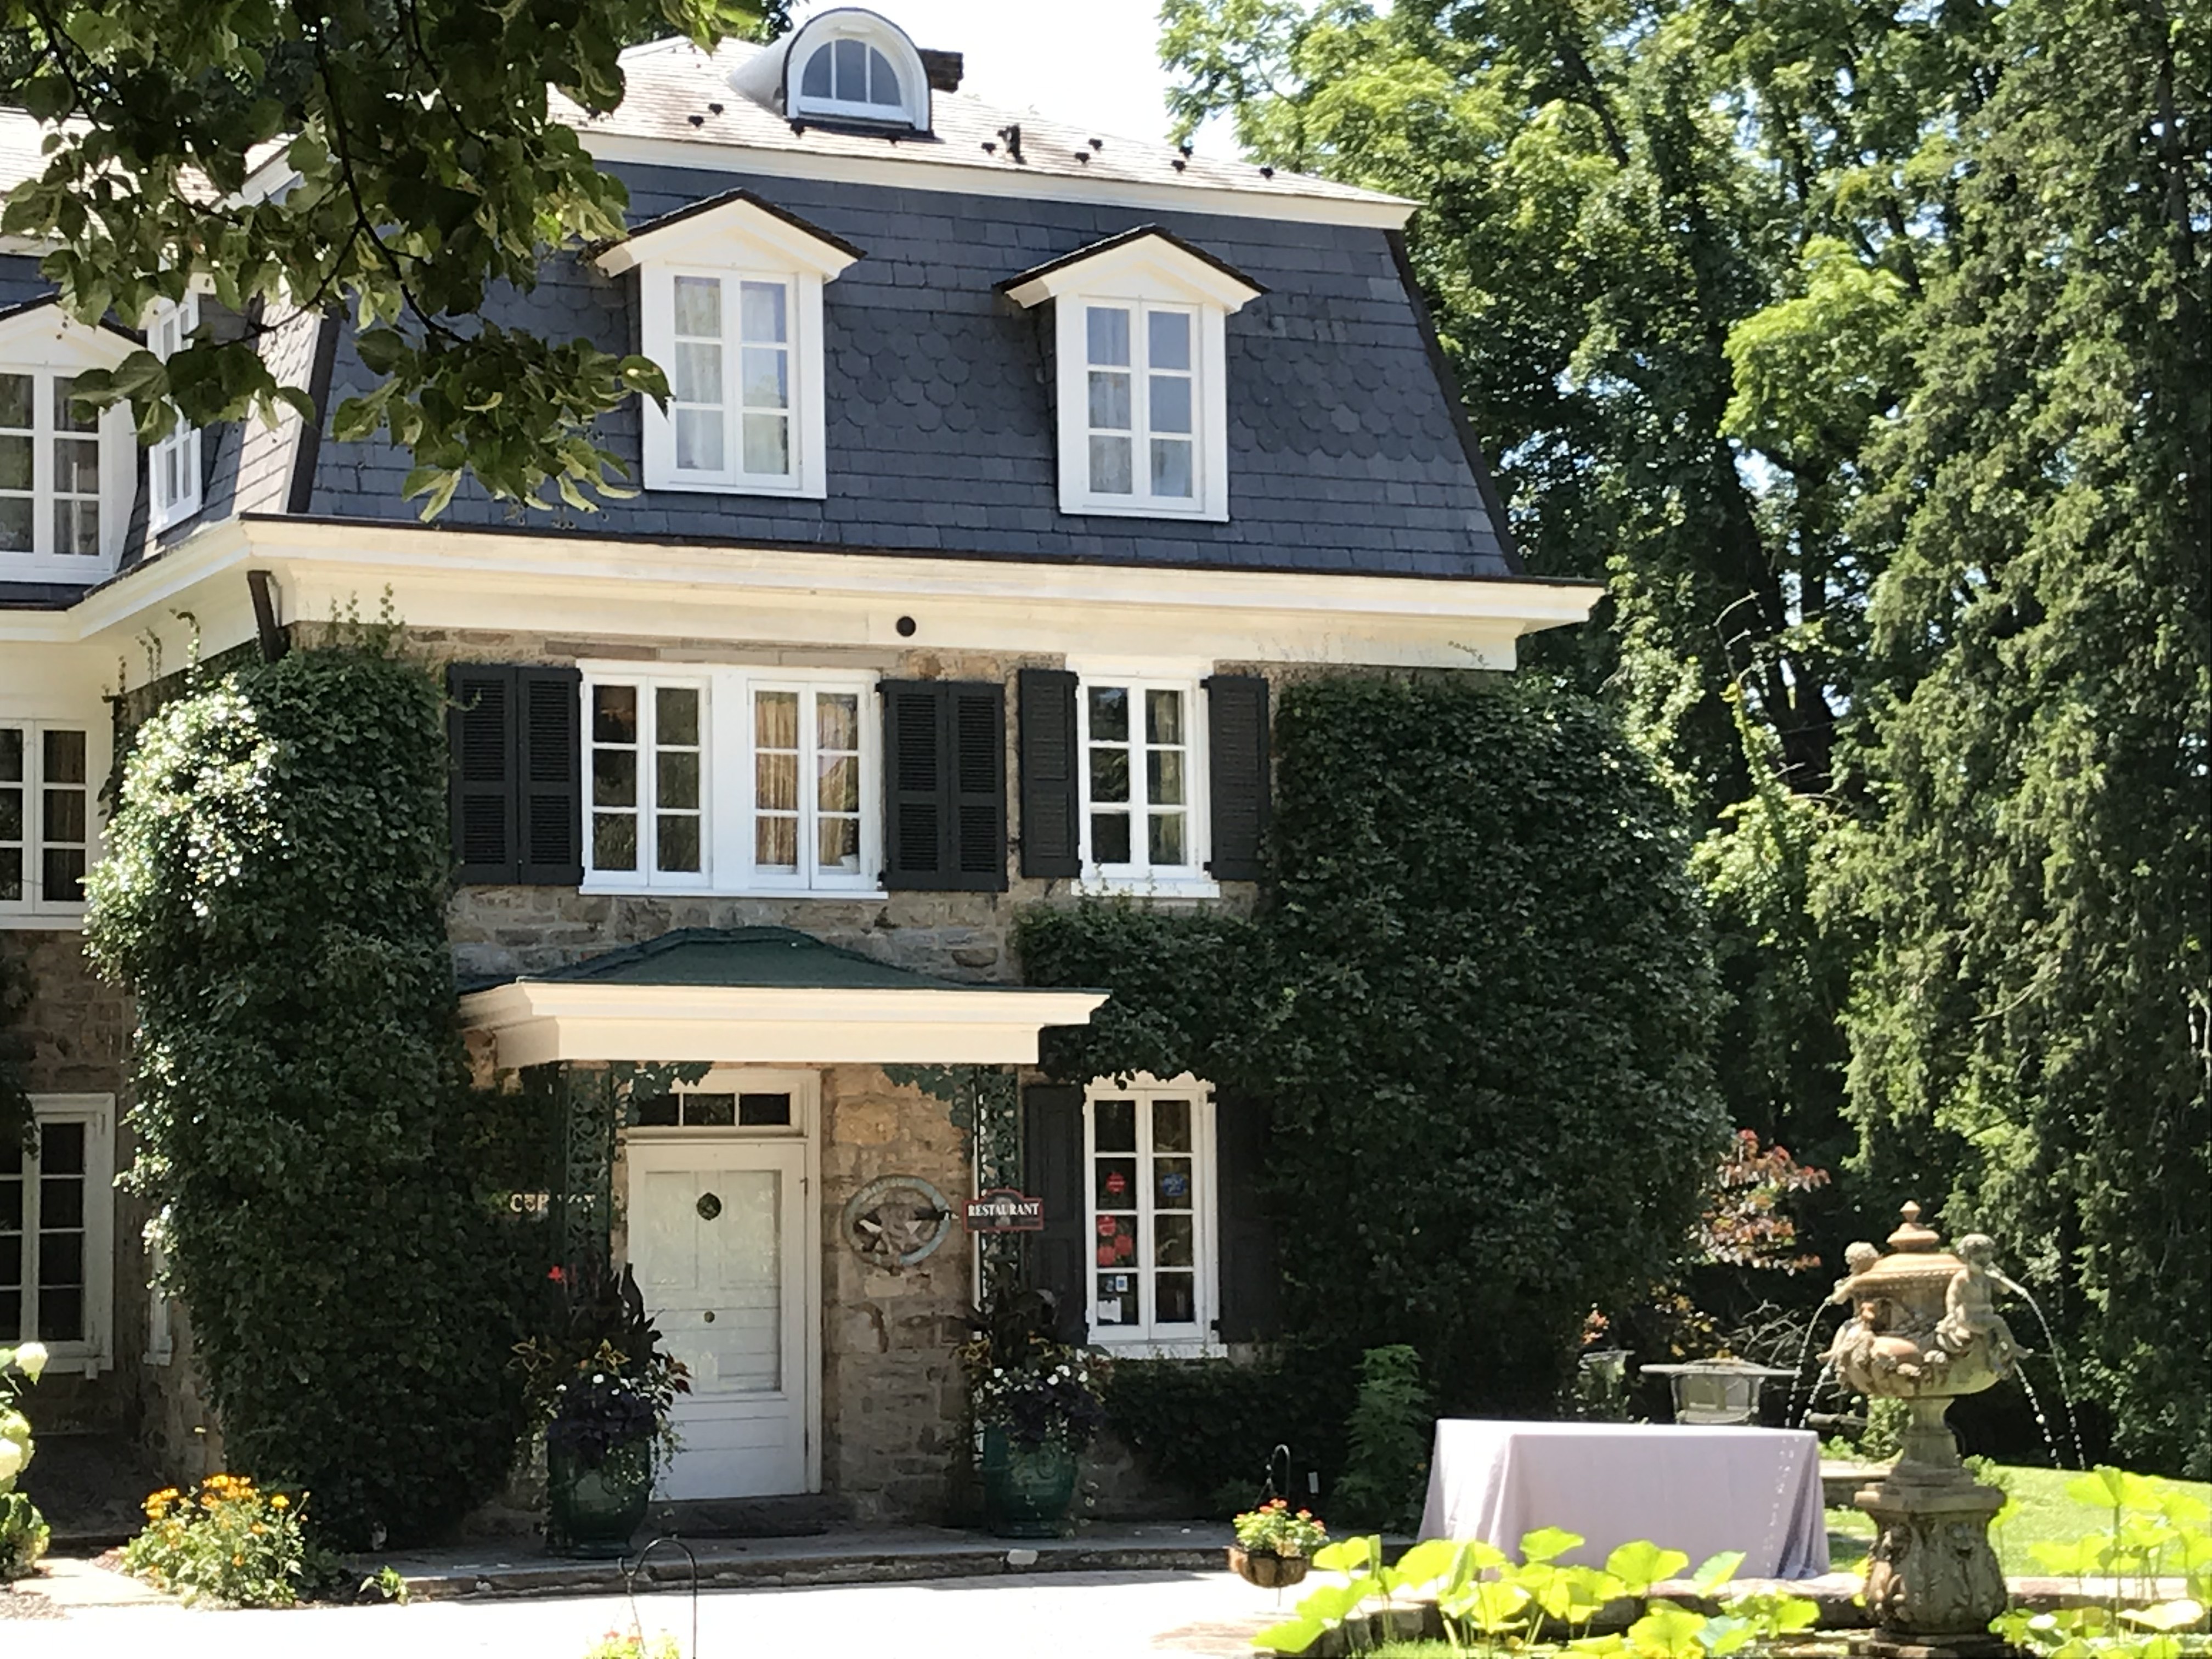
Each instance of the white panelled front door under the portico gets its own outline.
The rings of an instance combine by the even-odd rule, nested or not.
[[[810,1234],[805,1141],[630,1144],[630,1265],[690,1369],[659,1498],[807,1491]]]

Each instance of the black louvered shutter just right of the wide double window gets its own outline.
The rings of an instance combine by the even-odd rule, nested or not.
[[[1006,690],[887,679],[883,695],[883,885],[1006,887]]]

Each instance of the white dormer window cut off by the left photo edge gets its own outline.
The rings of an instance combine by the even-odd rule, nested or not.
[[[100,582],[115,568],[137,447],[131,407],[82,409],[75,380],[113,369],[131,336],[60,305],[0,321],[0,582]]]

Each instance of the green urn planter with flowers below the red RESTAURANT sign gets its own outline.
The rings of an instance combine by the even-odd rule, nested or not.
[[[1057,1340],[1053,1323],[1053,1298],[1029,1292],[980,1316],[960,1349],[984,1526],[1000,1537],[1066,1531],[1082,1451],[1106,1425],[1106,1356]]]

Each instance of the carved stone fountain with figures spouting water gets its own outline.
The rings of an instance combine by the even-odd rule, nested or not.
[[[1889,1254],[1854,1243],[1845,1252],[1851,1276],[1829,1296],[1851,1318],[1827,1363],[1847,1387],[1911,1409],[1896,1467],[1854,1498],[1880,1526],[1867,1557],[1874,1635],[1856,1646],[1891,1659],[2008,1652],[1989,1635],[2006,1601],[1989,1546],[2004,1493],[1960,1467],[1944,1411],[2008,1376],[2026,1349],[1995,1307],[1997,1290],[2015,1290],[1991,1265],[1995,1243],[1980,1232],[1955,1252],[1940,1243],[1920,1225],[1920,1206],[1907,1203]]]

